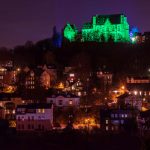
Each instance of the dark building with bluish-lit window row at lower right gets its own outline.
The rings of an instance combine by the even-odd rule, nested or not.
[[[129,120],[136,120],[137,114],[134,109],[101,109],[100,127],[103,131],[122,131]]]

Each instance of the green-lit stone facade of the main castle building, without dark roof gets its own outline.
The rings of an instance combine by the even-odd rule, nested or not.
[[[122,22],[120,24],[111,24],[109,18],[100,25],[96,24],[96,16],[93,17],[93,22],[82,28],[83,41],[97,42],[129,42],[129,25],[126,17],[121,15]]]

